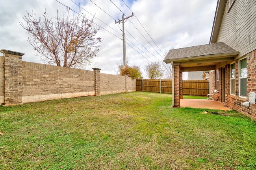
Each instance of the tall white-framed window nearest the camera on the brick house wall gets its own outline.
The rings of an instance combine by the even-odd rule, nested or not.
[[[247,96],[247,58],[239,60],[239,96]]]

